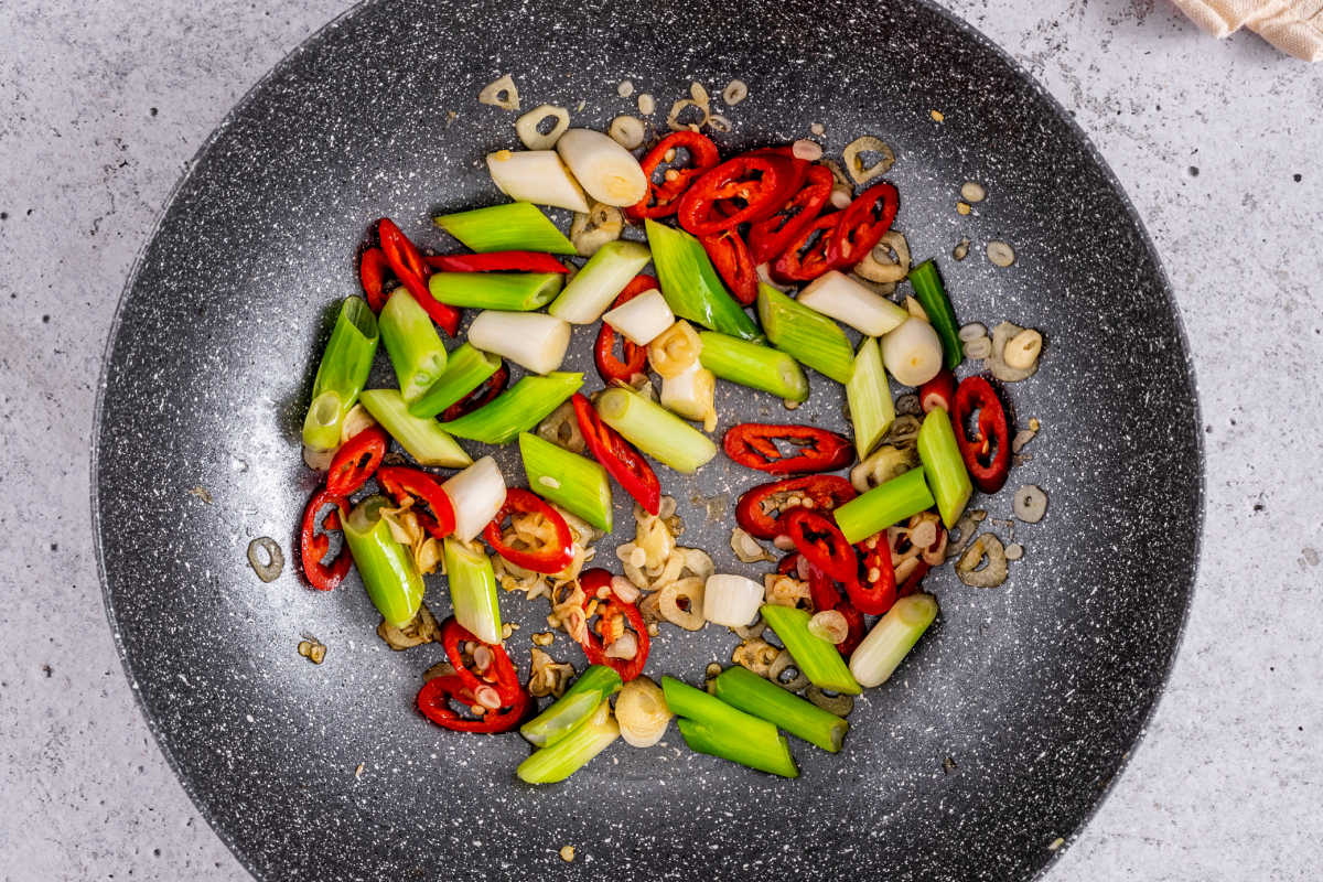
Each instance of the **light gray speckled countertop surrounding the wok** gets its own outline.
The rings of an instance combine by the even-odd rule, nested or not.
[[[241,879],[130,694],[91,551],[115,303],[191,157],[343,0],[0,4],[0,879]],[[1152,726],[1052,882],[1323,871],[1323,66],[1155,0],[947,4],[1074,114],[1163,255],[1208,500]],[[1254,376],[1248,368],[1254,366]]]

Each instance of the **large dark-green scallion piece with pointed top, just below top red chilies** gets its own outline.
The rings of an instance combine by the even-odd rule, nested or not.
[[[662,296],[681,319],[742,340],[762,340],[758,327],[726,294],[703,243],[684,230],[644,222]]]

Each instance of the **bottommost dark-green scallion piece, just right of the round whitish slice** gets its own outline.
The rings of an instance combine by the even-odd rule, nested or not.
[[[766,719],[737,710],[675,677],[662,677],[662,694],[667,707],[681,717],[677,725],[691,750],[773,775],[799,775],[789,742]]]

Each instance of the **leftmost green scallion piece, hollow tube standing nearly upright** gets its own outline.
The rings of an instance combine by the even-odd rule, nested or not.
[[[315,450],[340,446],[340,423],[368,382],[378,339],[377,316],[366,300],[345,298],[312,381],[312,403],[303,421],[306,446]],[[335,398],[327,393],[335,393]],[[333,414],[332,406],[339,406],[339,414]]]

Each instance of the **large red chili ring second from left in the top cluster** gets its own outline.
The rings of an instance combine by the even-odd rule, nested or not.
[[[786,156],[741,153],[693,181],[680,200],[676,220],[693,235],[704,237],[769,217],[794,193],[787,182],[795,177],[795,164]],[[736,210],[729,214],[714,210],[722,200],[732,200]]]

